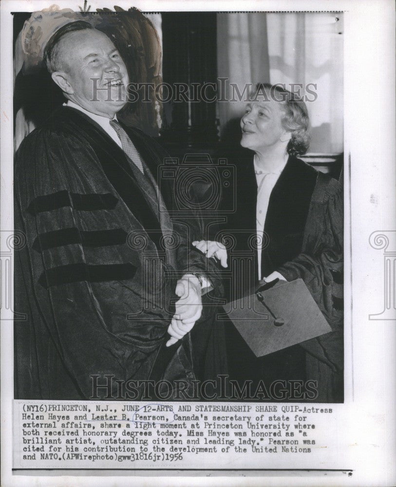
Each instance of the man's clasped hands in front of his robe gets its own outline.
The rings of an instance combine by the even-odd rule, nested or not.
[[[176,301],[176,311],[168,327],[170,339],[167,341],[167,347],[183,338],[202,314],[201,286],[195,276],[179,279],[175,293],[180,300]]]

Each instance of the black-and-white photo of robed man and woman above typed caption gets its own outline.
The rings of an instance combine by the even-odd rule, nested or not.
[[[342,13],[14,27],[15,397],[342,402]]]

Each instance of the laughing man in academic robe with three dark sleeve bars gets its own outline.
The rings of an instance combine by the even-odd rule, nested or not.
[[[191,384],[189,332],[207,265],[158,189],[167,154],[117,120],[129,77],[105,34],[69,23],[44,59],[67,102],[16,157],[15,227],[28,241],[16,259],[16,306],[28,310],[15,328],[16,397],[121,398],[129,380]]]

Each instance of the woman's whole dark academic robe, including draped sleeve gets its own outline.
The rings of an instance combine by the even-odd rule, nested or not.
[[[227,216],[225,230],[233,236],[229,258],[240,260],[238,252],[247,251],[254,263],[249,282],[234,284],[228,299],[241,297],[258,279],[257,251],[252,245],[257,182],[250,151],[236,162],[235,171],[235,212]],[[230,202],[226,206],[231,207]],[[317,380],[316,401],[342,401],[343,203],[339,182],[290,156],[271,192],[264,233],[262,276],[278,271],[287,281],[301,278],[333,331],[257,358],[228,324],[229,374],[239,381],[252,379],[253,385],[263,380],[266,387],[276,380]]]

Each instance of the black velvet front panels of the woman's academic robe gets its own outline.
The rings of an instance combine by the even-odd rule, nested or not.
[[[226,230],[235,239],[233,253],[251,251],[257,280],[256,236],[257,181],[253,157],[236,164],[235,212],[227,215]],[[318,172],[301,159],[289,157],[269,199],[264,223],[262,276],[296,257],[302,247],[305,222]],[[230,205],[228,205],[230,206]]]

